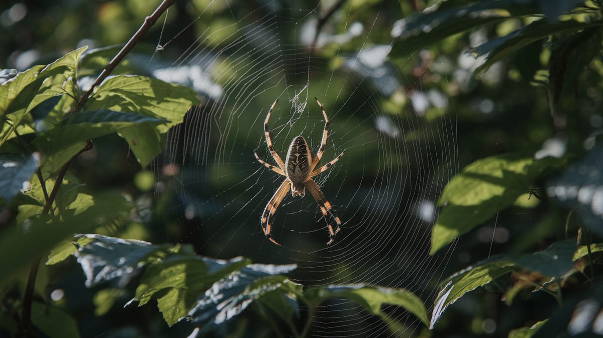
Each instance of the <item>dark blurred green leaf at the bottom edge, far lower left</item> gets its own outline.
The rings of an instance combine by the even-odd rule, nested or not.
[[[78,324],[58,307],[39,302],[31,304],[31,322],[49,338],[78,338]]]

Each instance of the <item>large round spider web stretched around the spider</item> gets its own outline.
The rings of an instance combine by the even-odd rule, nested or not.
[[[394,30],[401,16],[385,5],[371,7],[374,16],[358,17],[351,5],[333,1],[316,7],[200,3],[185,30],[163,33],[158,43],[163,53],[173,40],[194,36],[178,60],[156,75],[188,81],[204,104],[171,131],[165,154],[153,166],[155,196],[167,205],[163,216],[171,229],[158,228],[157,234],[193,243],[201,255],[295,263],[292,278],[304,286],[405,287],[431,308],[449,257],[428,255],[435,201],[458,171],[458,160],[446,96],[425,83],[439,77],[444,87],[445,74],[436,67],[410,74],[421,69],[412,64],[418,51],[402,66],[388,61],[391,37],[384,44],[376,33],[384,26]],[[271,234],[282,244],[277,246],[260,228],[260,215],[284,177],[253,153],[276,165],[263,124],[279,98],[269,123],[274,149],[285,160],[291,140],[302,135],[314,156],[324,126],[314,96],[330,119],[319,166],[345,153],[314,179],[343,225],[327,246],[317,202],[309,193],[288,193],[271,218]],[[400,110],[390,108],[404,101]],[[317,308],[309,336],[408,336],[420,327],[405,311],[384,308],[405,326],[391,332],[359,305],[334,299]]]

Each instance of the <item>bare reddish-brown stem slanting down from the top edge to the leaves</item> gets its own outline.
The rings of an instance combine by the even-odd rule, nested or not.
[[[162,16],[163,12],[166,11],[169,6],[174,4],[174,2],[175,0],[163,0],[163,2],[159,5],[159,7],[156,8],[153,14],[145,17],[145,21],[142,23],[140,28],[138,28],[136,33],[134,33],[134,35],[130,38],[128,43],[126,43],[124,48],[122,48],[121,51],[119,51],[118,54],[113,57],[113,60],[111,60],[109,64],[107,64],[105,69],[103,69],[103,72],[98,75],[92,86],[90,86],[90,89],[84,94],[84,96],[81,97],[80,101],[75,106],[74,111],[81,110],[81,108],[84,106],[84,104],[92,94],[92,90],[94,89],[94,87],[98,86],[98,84],[103,82],[103,80],[105,80],[109,76],[109,74],[113,72],[113,69],[115,69],[115,67],[121,62],[121,60],[123,60],[125,55],[127,55],[128,52],[130,52],[132,48],[136,46],[138,40],[140,40],[140,38],[147,33],[151,26],[153,26],[154,23],[157,22],[159,17]]]

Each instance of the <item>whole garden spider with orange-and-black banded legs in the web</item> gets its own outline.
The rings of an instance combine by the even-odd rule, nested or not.
[[[324,219],[327,219],[327,213],[329,213],[332,218],[335,219],[336,228],[334,231],[333,227],[329,224],[329,221],[327,221],[327,228],[329,228],[329,242],[327,242],[327,245],[333,242],[333,236],[335,236],[335,234],[338,233],[341,229],[339,227],[341,225],[341,221],[331,210],[331,204],[329,203],[329,201],[327,201],[326,198],[324,198],[323,192],[320,190],[316,182],[312,180],[312,177],[315,177],[321,172],[329,169],[330,166],[332,166],[337,160],[339,160],[339,157],[343,156],[342,152],[341,154],[339,154],[338,157],[335,157],[334,160],[330,161],[327,164],[324,164],[324,166],[321,166],[318,169],[314,169],[317,166],[318,162],[320,162],[320,158],[323,157],[324,148],[327,145],[327,136],[329,134],[329,117],[327,117],[327,113],[325,113],[324,111],[323,104],[321,104],[317,98],[314,99],[316,100],[320,108],[323,110],[324,115],[323,138],[320,141],[320,148],[318,148],[318,152],[316,153],[316,156],[314,158],[312,158],[312,154],[310,154],[308,142],[306,142],[306,139],[304,139],[301,135],[296,136],[291,142],[291,145],[287,150],[287,158],[285,162],[283,162],[279,154],[274,151],[272,140],[270,139],[270,131],[268,131],[268,120],[270,119],[270,114],[272,113],[274,106],[277,102],[279,102],[279,99],[276,99],[274,101],[274,103],[270,107],[270,110],[268,110],[268,115],[266,116],[266,120],[264,121],[264,133],[266,134],[266,143],[268,145],[268,149],[270,150],[270,154],[272,154],[274,161],[276,161],[279,166],[277,167],[273,166],[272,164],[268,164],[260,159],[260,157],[257,155],[257,152],[253,153],[254,155],[256,155],[257,161],[259,161],[259,163],[264,164],[264,166],[266,166],[271,171],[274,171],[277,174],[283,175],[285,177],[285,181],[280,184],[279,189],[276,190],[274,196],[272,196],[270,201],[268,201],[268,204],[264,209],[264,213],[262,213],[262,230],[264,231],[266,237],[276,245],[280,244],[276,242],[276,240],[274,240],[272,238],[272,235],[270,234],[271,225],[270,222],[268,222],[268,219],[274,215],[274,213],[276,212],[276,208],[279,207],[280,202],[283,201],[283,198],[285,198],[285,196],[289,192],[289,189],[291,189],[291,196],[299,195],[303,197],[306,193],[306,188],[308,188],[308,190],[312,194],[312,197],[314,197],[314,199],[318,202],[320,210],[323,212]]]

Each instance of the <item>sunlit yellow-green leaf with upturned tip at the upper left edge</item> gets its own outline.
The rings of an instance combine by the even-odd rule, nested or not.
[[[75,51],[58,58],[53,63],[48,64],[48,66],[34,66],[11,80],[0,84],[0,97],[7,98],[0,101],[0,117],[2,120],[8,119],[10,122],[4,123],[8,123],[11,126],[2,130],[0,145],[6,142],[25,114],[52,96],[65,93],[65,90],[62,89],[62,83],[51,83],[49,87],[45,87],[42,90],[40,90],[40,87],[49,77],[62,74],[63,72],[74,73],[75,69],[77,69],[80,56],[86,51],[86,48],[84,46],[75,49]]]

